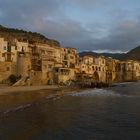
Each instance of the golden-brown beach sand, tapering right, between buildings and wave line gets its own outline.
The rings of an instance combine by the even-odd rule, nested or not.
[[[67,93],[78,91],[77,88],[47,86],[11,87],[0,85],[0,116],[7,112],[29,107],[44,100],[56,100]]]

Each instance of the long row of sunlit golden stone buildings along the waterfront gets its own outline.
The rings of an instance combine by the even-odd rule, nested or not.
[[[140,79],[140,62],[104,56],[79,57],[75,48],[0,38],[0,82],[19,76],[16,85],[113,83]]]

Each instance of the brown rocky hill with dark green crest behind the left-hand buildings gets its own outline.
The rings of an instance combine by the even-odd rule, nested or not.
[[[0,37],[4,37],[6,40],[13,40],[17,38],[18,40],[22,41],[28,40],[29,42],[47,43],[50,46],[56,45],[60,47],[60,43],[58,41],[48,39],[47,37],[45,37],[40,33],[25,31],[21,29],[8,28],[2,25],[0,25]]]

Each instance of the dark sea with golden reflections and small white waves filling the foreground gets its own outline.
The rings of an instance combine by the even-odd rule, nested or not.
[[[50,98],[0,97],[0,140],[139,140],[140,83]]]

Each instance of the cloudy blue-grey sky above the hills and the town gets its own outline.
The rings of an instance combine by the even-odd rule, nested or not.
[[[140,0],[0,0],[0,24],[79,52],[127,52],[140,45]]]

